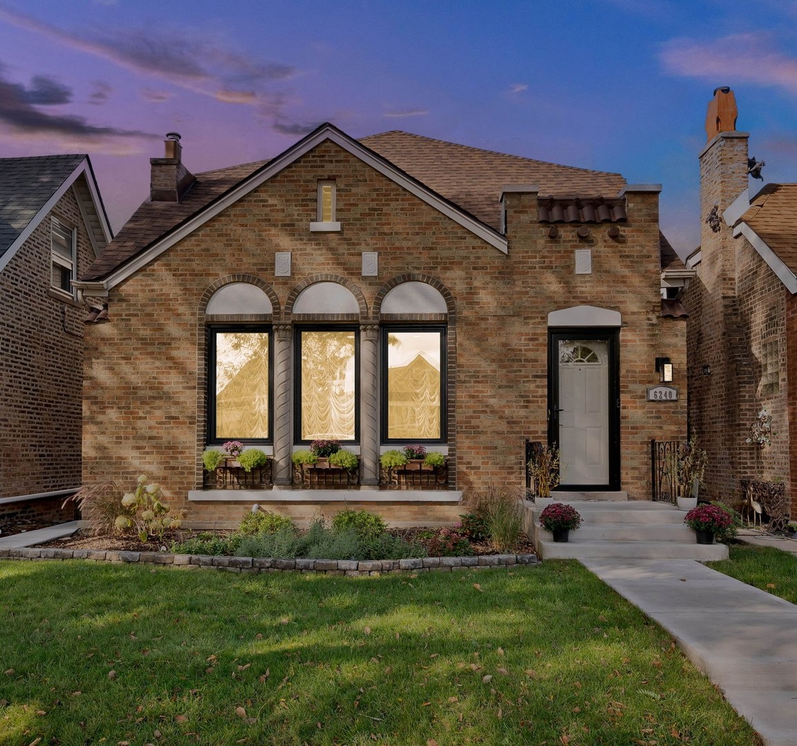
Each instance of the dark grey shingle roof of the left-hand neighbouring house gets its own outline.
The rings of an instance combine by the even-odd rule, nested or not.
[[[0,256],[85,158],[82,154],[0,158]]]

